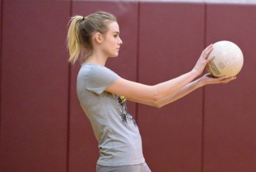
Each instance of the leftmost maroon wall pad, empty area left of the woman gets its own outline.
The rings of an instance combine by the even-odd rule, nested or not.
[[[4,1],[0,171],[66,171],[69,2]]]

